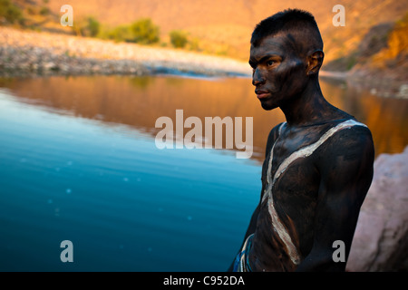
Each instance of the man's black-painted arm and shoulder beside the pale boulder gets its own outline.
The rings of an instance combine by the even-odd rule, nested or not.
[[[337,132],[316,153],[321,179],[314,243],[296,271],[345,271],[360,208],[373,179],[371,132],[364,127]],[[337,240],[344,242],[345,262],[333,259]]]

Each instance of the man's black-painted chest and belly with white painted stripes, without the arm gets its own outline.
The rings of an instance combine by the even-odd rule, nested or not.
[[[253,271],[294,271],[313,246],[320,186],[319,150],[337,132],[355,125],[337,120],[289,128],[283,123],[268,140],[262,168],[257,229],[249,251]],[[301,238],[299,238],[301,237]]]

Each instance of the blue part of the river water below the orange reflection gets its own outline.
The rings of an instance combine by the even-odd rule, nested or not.
[[[90,119],[102,114],[27,102],[0,89],[0,271],[225,271],[257,204],[256,162],[158,150]]]

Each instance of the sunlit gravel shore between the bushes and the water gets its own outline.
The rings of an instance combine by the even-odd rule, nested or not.
[[[0,74],[249,76],[248,63],[175,50],[0,27]]]

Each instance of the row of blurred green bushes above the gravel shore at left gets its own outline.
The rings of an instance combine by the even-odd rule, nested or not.
[[[0,0],[0,24],[18,24],[25,28],[41,31],[43,24],[53,23],[55,19],[61,17],[61,14],[50,10],[47,6],[48,2],[48,0],[24,1],[24,5],[20,6],[15,5],[12,0]],[[58,28],[60,27],[53,29]],[[95,16],[84,15],[83,17],[75,17],[71,28],[72,33],[77,36],[113,40],[117,43],[157,44],[161,47],[171,46],[190,51],[226,54],[218,48],[201,43],[197,37],[190,39],[189,34],[183,30],[170,31],[169,38],[165,37],[165,40],[160,42],[160,27],[154,24],[151,18],[141,18],[131,24],[110,27],[102,24]],[[64,29],[64,33],[66,32],[67,30]]]

